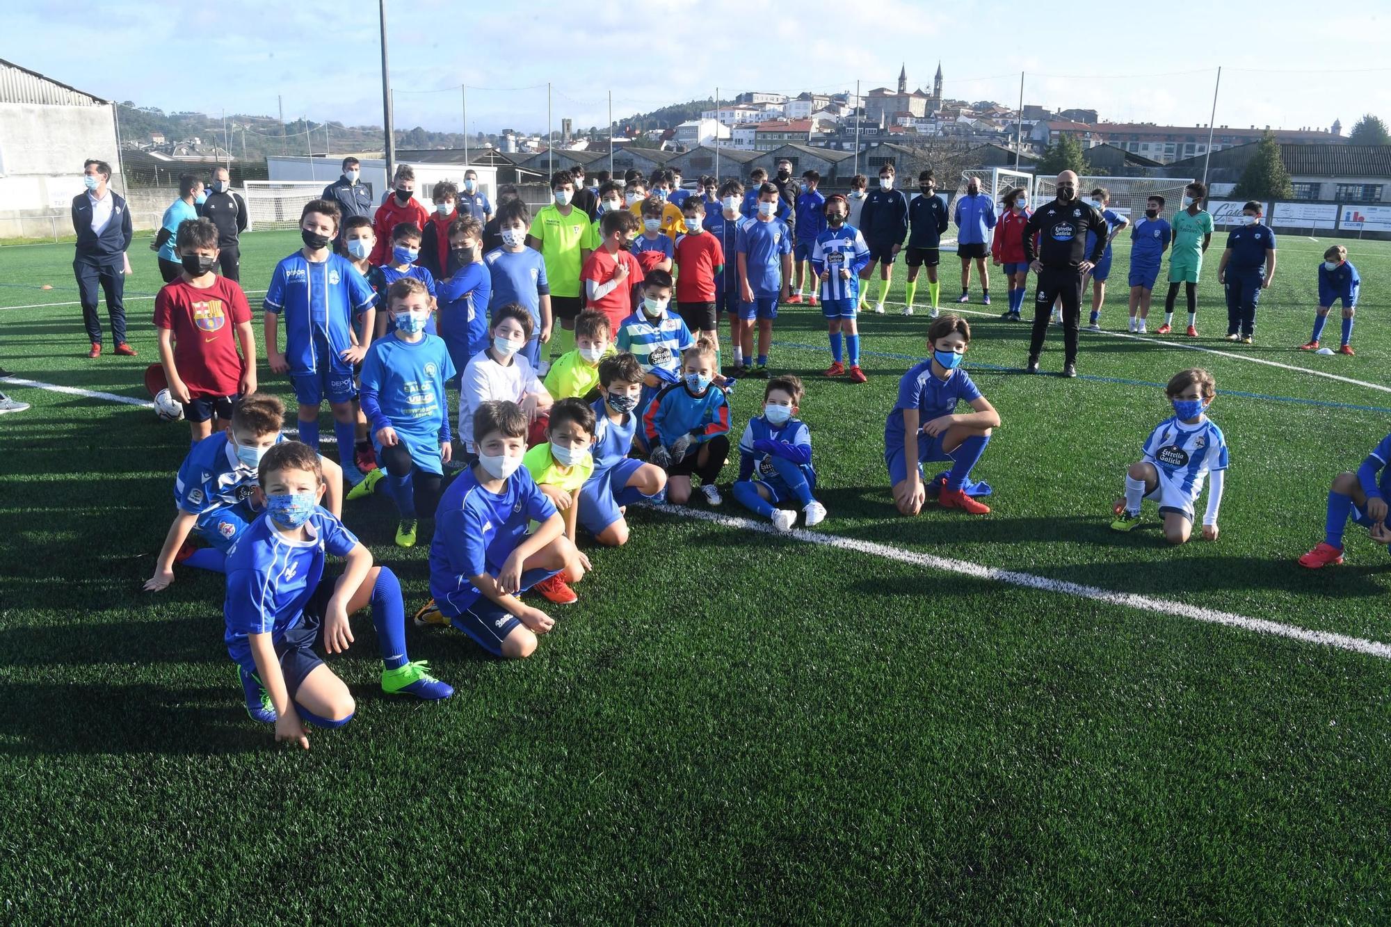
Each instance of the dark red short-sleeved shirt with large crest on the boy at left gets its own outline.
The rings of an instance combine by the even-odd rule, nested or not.
[[[154,327],[174,333],[174,366],[193,398],[235,395],[241,388],[236,326],[250,320],[246,294],[227,277],[207,290],[179,277],[154,296]]]

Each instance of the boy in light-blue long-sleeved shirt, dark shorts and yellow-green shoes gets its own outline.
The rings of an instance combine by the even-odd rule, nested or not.
[[[472,216],[469,220],[477,221]],[[371,423],[380,466],[348,498],[371,496],[385,479],[401,514],[398,547],[416,546],[416,511],[434,511],[451,457],[444,386],[458,370],[444,340],[426,334],[433,302],[419,280],[402,277],[391,284],[387,306],[395,326],[373,342],[362,362],[362,411]]]

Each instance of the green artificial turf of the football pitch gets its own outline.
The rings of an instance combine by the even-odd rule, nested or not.
[[[807,381],[830,512],[811,533],[850,543],[632,514],[632,543],[588,548],[580,601],[548,608],[556,629],[530,660],[410,635],[412,657],[458,688],[442,704],[381,695],[362,615],[330,660],[357,715],[310,729],[309,753],[275,749],[242,711],[218,576],[177,568],[166,592],[140,592],[186,425],[0,387],[33,404],[0,419],[4,919],[1385,921],[1385,644],[1195,615],[1391,642],[1391,557],[1363,530],[1344,566],[1294,562],[1321,539],[1328,480],[1391,429],[1391,246],[1345,242],[1363,278],[1358,355],[1327,358],[1295,345],[1328,242],[1281,235],[1242,347],[1221,341],[1224,238],[1200,338],[1084,333],[1077,380],[1018,372],[1028,326],[995,319],[996,269],[967,355],[1003,418],[975,472],[995,487],[981,518],[892,507],[883,419],[925,352],[925,313],[862,316],[871,379],[853,386],[819,376],[819,310],[785,308],[772,366]],[[132,296],[153,296],[159,276],[143,241],[127,284],[134,359],[88,360],[79,308],[50,305],[75,303],[71,245],[0,248],[3,366],[146,398],[153,299]],[[296,246],[294,232],[248,235],[243,287],[263,290]],[[1125,328],[1127,258],[1121,238],[1110,331]],[[957,267],[947,256],[947,299]],[[890,298],[903,277],[900,263]],[[964,308],[985,309],[972,295]],[[1337,333],[1334,313],[1326,342]],[[1053,328],[1043,367],[1060,366]],[[1220,539],[1171,548],[1152,504],[1129,534],[1109,529],[1109,507],[1185,366],[1217,379],[1231,470]],[[260,376],[292,398],[264,362]],[[733,438],[759,399],[754,381],[736,388]],[[721,515],[746,515],[725,497]],[[396,548],[384,496],[345,521],[401,575],[408,614],[423,603],[428,526]]]

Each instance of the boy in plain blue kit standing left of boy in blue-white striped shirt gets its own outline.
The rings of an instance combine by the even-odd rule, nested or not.
[[[740,331],[734,344],[741,348],[744,360],[741,370],[757,377],[768,376],[768,348],[773,341],[778,299],[787,299],[787,285],[791,283],[791,230],[787,228],[787,223],[776,217],[779,199],[775,184],[762,184],[758,188],[758,219],[744,223],[739,230],[736,245]],[[758,369],[750,370],[755,320]]]

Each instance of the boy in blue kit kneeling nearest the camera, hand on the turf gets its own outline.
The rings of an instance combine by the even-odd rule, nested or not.
[[[227,653],[236,664],[246,713],[275,725],[277,740],[309,749],[302,721],[341,728],[356,706],[348,686],[314,647],[342,653],[353,643],[348,615],[371,605],[381,647],[381,690],[448,699],[453,689],[406,656],[401,583],[319,502],[319,455],[299,441],[266,451],[259,468],[266,514],[227,557]],[[327,554],[345,558],[341,576],[324,575]]]

